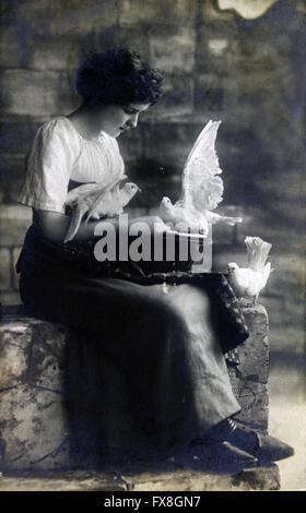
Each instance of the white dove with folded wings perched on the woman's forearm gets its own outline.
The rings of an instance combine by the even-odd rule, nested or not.
[[[140,191],[133,182],[127,182],[120,189],[119,183],[127,178],[126,175],[113,180],[107,186],[101,183],[85,183],[72,189],[67,194],[66,206],[72,208],[71,222],[63,242],[69,242],[75,236],[83,216],[85,222],[91,217],[115,217],[123,212],[132,196]]]

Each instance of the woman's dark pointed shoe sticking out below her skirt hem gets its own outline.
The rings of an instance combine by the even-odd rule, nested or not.
[[[276,462],[294,454],[294,449],[281,440],[237,426],[234,420],[226,419],[217,429],[209,434],[214,440],[224,440],[245,451],[256,458],[259,464]]]

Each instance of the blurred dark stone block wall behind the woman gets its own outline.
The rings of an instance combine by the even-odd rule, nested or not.
[[[254,20],[228,9],[233,3],[2,1],[0,205],[10,205],[10,219],[17,219],[8,220],[2,208],[2,290],[15,281],[8,263],[21,244],[24,219],[14,205],[31,140],[43,121],[79,105],[73,81],[84,56],[114,45],[129,45],[166,72],[165,100],[119,139],[128,174],[144,191],[133,205],[154,207],[164,194],[176,199],[196,136],[209,119],[222,119],[224,204],[260,213],[247,235],[270,240],[276,252],[289,242],[303,251],[305,3],[270,2]],[[8,234],[16,243],[7,243]]]

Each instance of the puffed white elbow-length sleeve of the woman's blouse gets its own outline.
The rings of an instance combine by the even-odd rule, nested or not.
[[[80,155],[80,139],[68,119],[57,118],[37,131],[26,159],[19,202],[64,213],[71,169]]]

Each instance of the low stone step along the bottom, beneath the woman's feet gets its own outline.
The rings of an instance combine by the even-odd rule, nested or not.
[[[0,478],[0,491],[255,491],[279,490],[280,472],[274,464],[244,469],[236,474],[215,474],[188,469],[144,470],[141,473],[61,472],[35,476]],[[129,497],[129,493],[127,493]],[[114,496],[121,498],[122,494]],[[126,494],[123,496],[126,497]],[[177,503],[178,505],[178,503]]]

